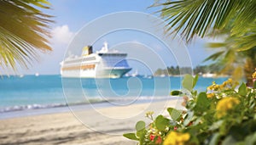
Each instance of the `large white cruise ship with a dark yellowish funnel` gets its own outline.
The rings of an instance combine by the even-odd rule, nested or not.
[[[100,51],[93,53],[92,46],[83,48],[81,56],[69,56],[61,62],[62,77],[119,78],[131,70],[127,53],[108,50],[105,42]]]

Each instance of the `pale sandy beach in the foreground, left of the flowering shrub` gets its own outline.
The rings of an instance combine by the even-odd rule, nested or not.
[[[166,114],[177,101],[137,103],[99,109],[0,120],[0,144],[136,144],[122,134],[134,131],[144,114]]]

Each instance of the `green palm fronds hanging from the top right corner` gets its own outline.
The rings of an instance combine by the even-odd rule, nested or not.
[[[245,28],[255,25],[253,0],[177,0],[159,5],[163,7],[160,14],[167,22],[167,31],[179,33],[187,42],[195,36],[204,37],[209,31],[229,26],[232,35],[241,35]]]

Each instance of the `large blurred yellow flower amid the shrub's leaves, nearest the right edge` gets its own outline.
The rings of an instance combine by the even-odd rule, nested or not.
[[[217,118],[221,118],[227,114],[227,111],[232,109],[236,104],[240,103],[238,98],[222,98],[217,103],[216,111]]]

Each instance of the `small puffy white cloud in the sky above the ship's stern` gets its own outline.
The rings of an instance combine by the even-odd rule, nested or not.
[[[52,31],[53,44],[68,44],[73,37],[73,32],[69,31],[68,25],[56,26]]]

